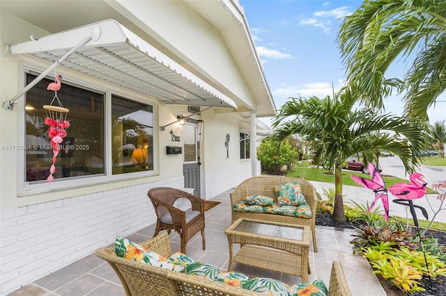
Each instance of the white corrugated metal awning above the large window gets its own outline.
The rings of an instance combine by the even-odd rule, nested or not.
[[[162,54],[118,22],[102,22],[11,45],[13,54],[30,54],[51,63],[100,28],[63,67],[160,99],[165,104],[237,108],[232,99]]]

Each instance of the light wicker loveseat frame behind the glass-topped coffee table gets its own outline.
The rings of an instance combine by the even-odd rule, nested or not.
[[[300,186],[302,193],[312,210],[312,217],[309,219],[300,217],[291,217],[285,215],[274,215],[269,213],[248,213],[248,212],[237,212],[233,210],[233,206],[242,202],[243,199],[249,195],[266,195],[268,197],[275,198],[274,186],[279,186],[284,183],[290,183],[293,181],[300,181]],[[231,213],[232,222],[236,222],[238,218],[246,217],[250,219],[262,220],[262,221],[273,221],[289,224],[306,225],[312,229],[313,238],[313,249],[314,252],[318,252],[316,245],[316,208],[317,208],[317,197],[316,189],[303,179],[298,178],[288,178],[285,176],[254,176],[252,178],[246,179],[234,190],[231,194]]]

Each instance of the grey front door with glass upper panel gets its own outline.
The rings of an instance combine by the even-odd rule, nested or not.
[[[200,165],[197,156],[197,124],[194,120],[183,126],[183,174],[185,188],[194,188],[200,197]]]

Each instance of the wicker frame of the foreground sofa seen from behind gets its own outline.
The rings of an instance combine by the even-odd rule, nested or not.
[[[169,236],[166,232],[140,245],[165,257],[171,255]],[[224,283],[193,277],[190,274],[130,261],[116,256],[114,247],[97,249],[95,254],[112,266],[128,296],[263,295]],[[330,296],[351,296],[341,263],[332,263],[329,294]]]

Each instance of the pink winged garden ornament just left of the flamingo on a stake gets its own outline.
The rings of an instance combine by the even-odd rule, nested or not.
[[[387,195],[387,188],[385,188],[383,177],[380,175],[379,171],[376,170],[376,167],[373,163],[369,163],[367,165],[367,168],[369,169],[371,179],[365,179],[360,176],[354,175],[351,176],[351,179],[358,183],[360,186],[374,190],[375,199],[369,206],[369,212],[375,206],[378,199],[381,199],[381,202],[383,202],[384,206],[385,222],[387,222],[387,220],[389,220],[389,197]]]

